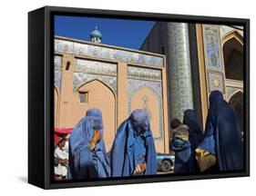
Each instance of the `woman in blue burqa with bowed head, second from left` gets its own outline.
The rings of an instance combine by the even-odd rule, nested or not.
[[[157,173],[155,144],[145,110],[133,111],[118,127],[110,161],[113,177]]]

